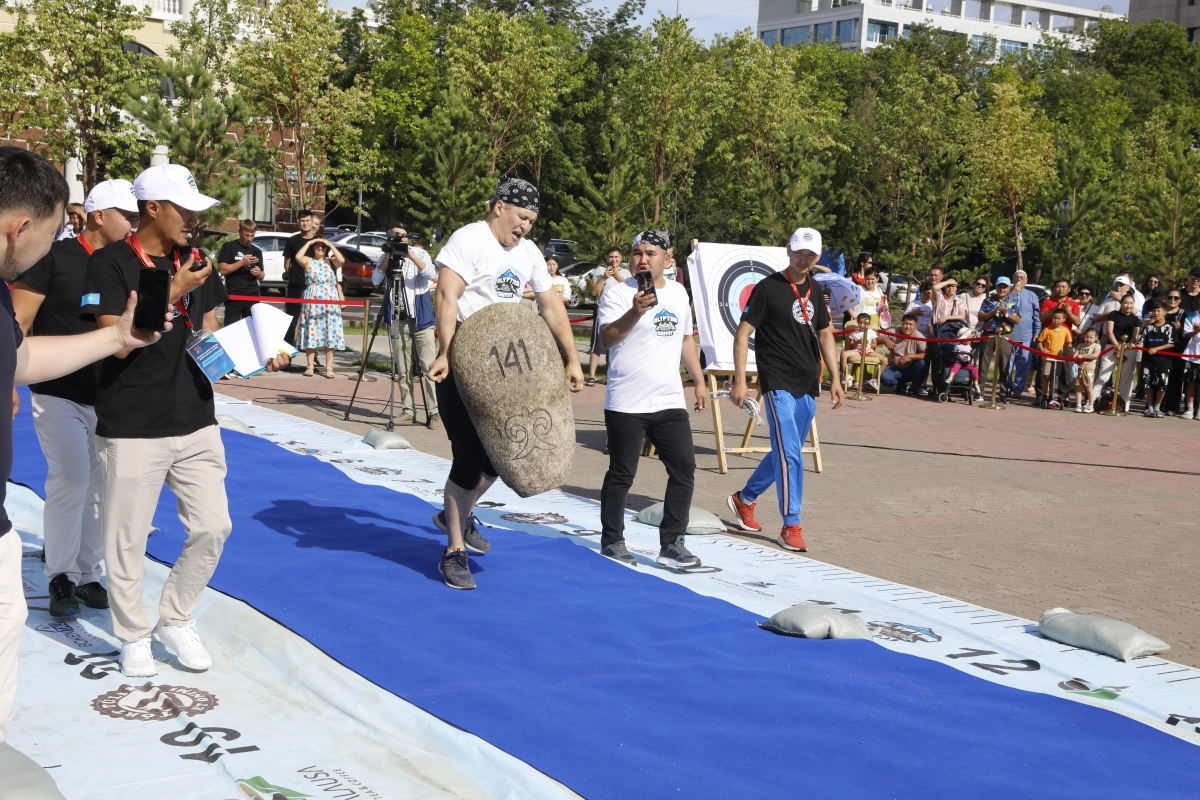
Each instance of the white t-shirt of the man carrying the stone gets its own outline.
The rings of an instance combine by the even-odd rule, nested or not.
[[[526,284],[550,291],[550,270],[541,251],[528,239],[500,247],[486,222],[454,231],[438,253],[438,266],[457,272],[467,283],[458,297],[458,321],[493,302],[521,302]]]

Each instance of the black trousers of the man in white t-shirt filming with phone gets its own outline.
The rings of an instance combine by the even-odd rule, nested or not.
[[[659,458],[667,469],[659,541],[670,545],[688,529],[691,493],[696,485],[696,452],[688,411],[682,408],[653,414],[606,410],[604,423],[608,431],[608,471],[600,489],[600,546],[625,537],[625,498],[637,475],[643,439],[658,449]]]

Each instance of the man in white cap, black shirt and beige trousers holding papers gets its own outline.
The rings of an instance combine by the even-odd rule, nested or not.
[[[224,447],[212,385],[191,357],[190,341],[215,318],[224,289],[211,265],[194,260],[188,233],[197,211],[217,200],[200,194],[185,167],[161,164],[133,182],[142,215],[138,231],[96,251],[88,263],[82,313],[101,327],[115,325],[144,270],[170,276],[174,326],[144,350],[121,350],[101,365],[96,435],[104,471],[102,528],[113,633],[121,640],[121,674],[156,674],[151,636],[190,669],[212,658],[192,612],[216,570],[233,523],[226,498]],[[268,371],[288,362],[278,356]],[[146,537],[162,483],[179,498],[187,542],[175,561],[151,630],[142,603]]]

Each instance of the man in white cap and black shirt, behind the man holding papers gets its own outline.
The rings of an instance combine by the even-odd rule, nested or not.
[[[88,258],[137,227],[133,184],[96,184],[84,211],[88,216],[79,237],[54,242],[46,258],[13,284],[12,303],[25,333],[70,336],[96,330],[95,323],[79,318]],[[50,615],[78,613],[80,601],[90,608],[108,608],[108,593],[100,583],[104,557],[100,498],[104,479],[95,445],[95,365],[34,384],[30,390],[34,427],[49,467],[42,531]]]

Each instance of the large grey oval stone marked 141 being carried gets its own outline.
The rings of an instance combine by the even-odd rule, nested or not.
[[[575,420],[546,323],[521,303],[493,303],[455,333],[450,365],[500,480],[523,498],[562,486],[575,456]]]

